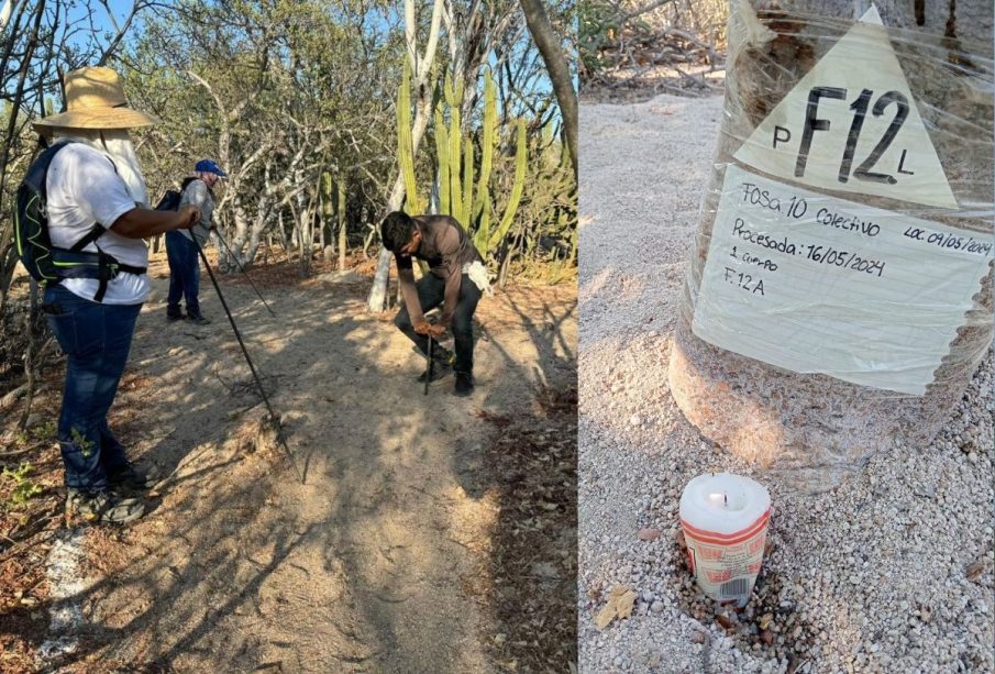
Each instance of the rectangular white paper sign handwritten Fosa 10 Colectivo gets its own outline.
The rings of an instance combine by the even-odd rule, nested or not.
[[[794,372],[921,395],[993,247],[991,235],[729,165],[693,330]]]

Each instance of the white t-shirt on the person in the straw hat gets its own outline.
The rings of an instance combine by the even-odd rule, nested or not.
[[[69,248],[92,229],[95,222],[106,228],[135,208],[111,161],[98,150],[82,143],[69,143],[52,159],[46,179],[48,235],[52,245]],[[97,246],[123,264],[148,266],[148,247],[141,239],[126,239],[106,231],[84,248],[96,253]],[[92,300],[100,281],[96,278],[67,278],[62,285],[84,299]],[[147,274],[121,272],[107,285],[104,305],[141,305],[148,297]]]

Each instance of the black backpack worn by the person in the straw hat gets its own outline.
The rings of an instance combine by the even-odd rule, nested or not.
[[[100,280],[100,287],[93,300],[99,302],[107,291],[108,281],[120,272],[144,274],[146,268],[121,264],[99,247],[96,253],[84,252],[82,248],[95,243],[107,231],[99,222],[93,223],[90,231],[69,248],[52,245],[46,210],[46,179],[52,159],[68,143],[56,143],[46,148],[27,168],[14,203],[14,242],[21,264],[42,287],[58,284],[65,278],[96,278]]]

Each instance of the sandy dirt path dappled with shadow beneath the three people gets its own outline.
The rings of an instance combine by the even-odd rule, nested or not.
[[[162,261],[152,275],[111,423],[168,477],[140,522],[88,532],[77,666],[494,671],[478,588],[502,504],[484,417],[575,382],[573,289],[482,302],[477,390],[460,399],[451,378],[422,396],[423,360],[393,312],[363,310],[365,278],[264,288],[277,319],[225,279],[300,485],[256,442],[262,407],[240,413],[256,396],[217,296],[202,290],[209,327],[169,324]]]

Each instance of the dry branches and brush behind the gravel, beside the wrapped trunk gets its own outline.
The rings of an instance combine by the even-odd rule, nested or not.
[[[679,11],[682,4],[694,7],[693,1],[678,0],[652,0],[632,8],[617,0],[583,2],[584,88],[716,89],[700,73],[725,68],[725,16],[701,12],[700,7],[699,14],[688,15]]]

